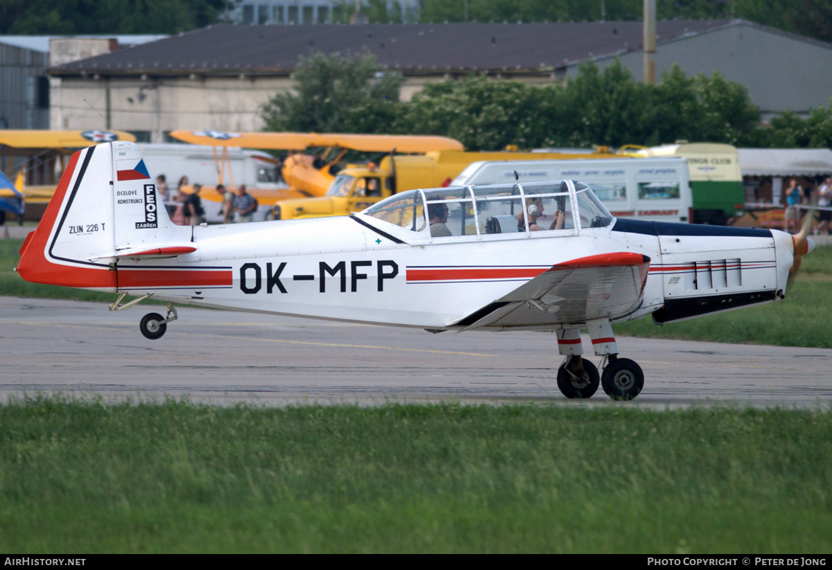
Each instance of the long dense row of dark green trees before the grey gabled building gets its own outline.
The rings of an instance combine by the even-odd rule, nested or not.
[[[566,86],[470,77],[427,86],[397,123],[399,132],[446,135],[473,150],[506,145],[613,147],[706,140],[750,145],[760,115],[745,87],[688,78],[678,66],[657,85],[636,82],[619,61],[581,66]]]

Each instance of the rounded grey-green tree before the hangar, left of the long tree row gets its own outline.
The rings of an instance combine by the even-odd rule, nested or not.
[[[263,106],[265,130],[384,133],[401,112],[404,78],[372,55],[301,57],[294,79]]]

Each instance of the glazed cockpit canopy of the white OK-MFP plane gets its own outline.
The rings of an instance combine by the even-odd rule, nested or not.
[[[409,190],[361,215],[432,238],[576,233],[612,224],[612,214],[592,189],[572,180]]]

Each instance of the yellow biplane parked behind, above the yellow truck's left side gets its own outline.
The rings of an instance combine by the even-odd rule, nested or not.
[[[260,150],[287,150],[290,154],[282,161],[281,174],[288,190],[250,191],[260,204],[274,205],[283,199],[323,196],[332,184],[335,174],[343,168],[342,160],[349,150],[359,152],[423,154],[436,150],[463,150],[458,140],[433,135],[352,135],[343,133],[226,133],[216,130],[174,130],[171,137],[193,145],[209,145]],[[312,154],[304,151],[313,150]],[[218,164],[224,159],[217,159]],[[218,165],[217,171],[224,169]],[[220,177],[220,183],[225,184]],[[232,181],[233,185],[233,181]],[[206,198],[217,199],[214,193]]]

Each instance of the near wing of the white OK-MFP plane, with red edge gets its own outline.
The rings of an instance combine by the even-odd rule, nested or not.
[[[454,324],[545,327],[623,317],[640,305],[649,267],[650,258],[626,252],[558,263]]]

